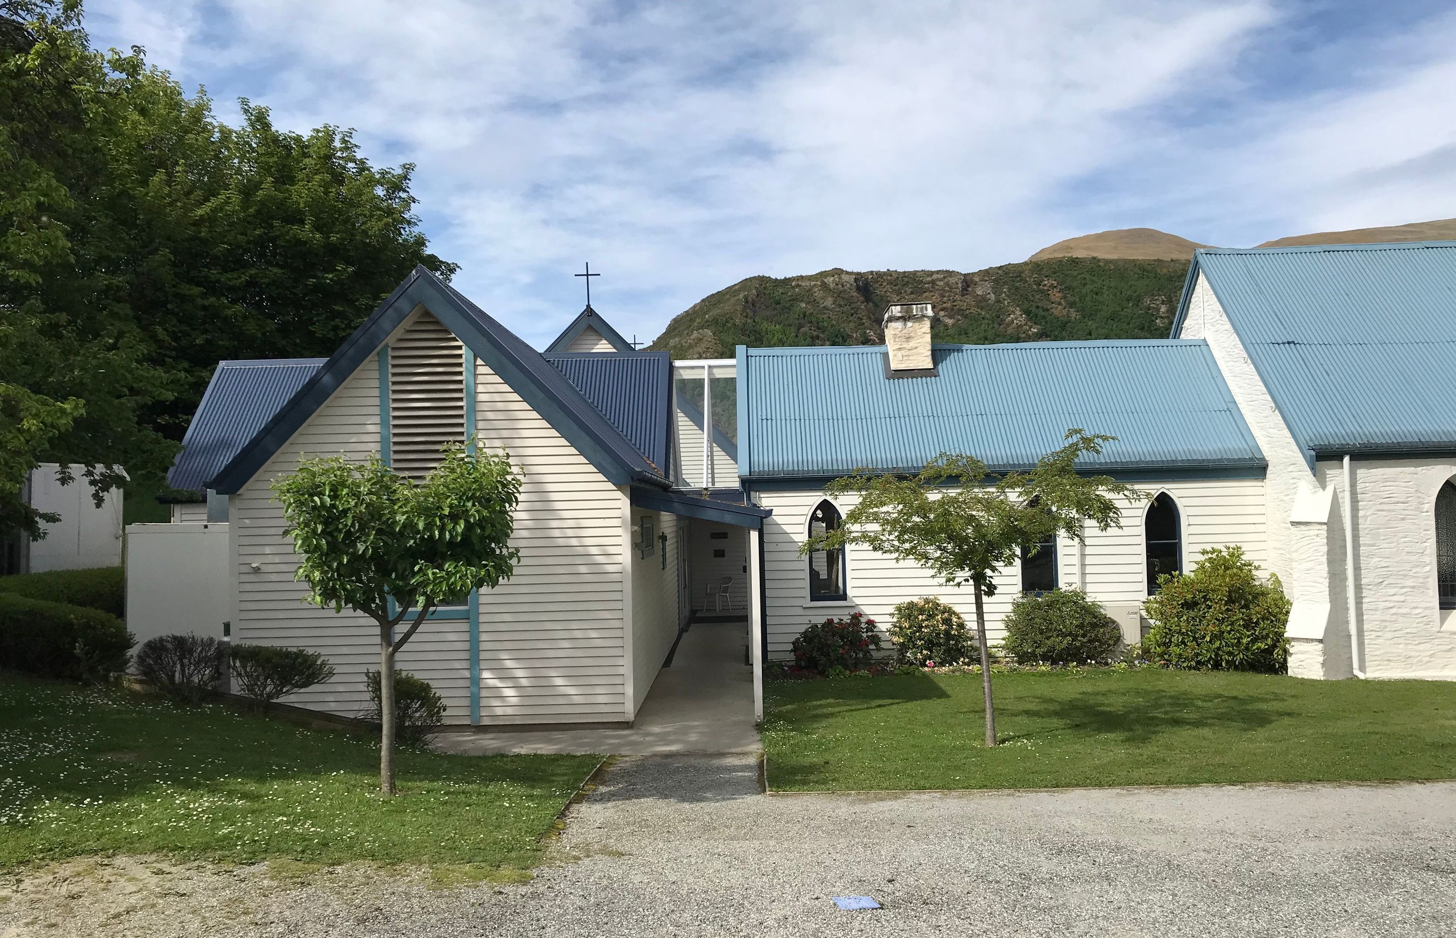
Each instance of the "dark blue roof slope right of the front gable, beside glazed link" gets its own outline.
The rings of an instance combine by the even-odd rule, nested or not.
[[[654,466],[667,468],[673,363],[667,352],[547,354],[577,390]]]

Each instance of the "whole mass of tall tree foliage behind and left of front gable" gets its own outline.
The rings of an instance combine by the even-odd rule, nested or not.
[[[0,0],[0,527],[39,462],[157,476],[221,358],[320,355],[430,253],[412,166],[218,121],[79,0]]]

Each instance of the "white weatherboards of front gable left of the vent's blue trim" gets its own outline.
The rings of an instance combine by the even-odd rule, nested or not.
[[[325,654],[335,669],[333,679],[285,698],[285,702],[344,717],[355,717],[368,708],[364,671],[379,667],[379,628],[368,616],[347,609],[335,613],[303,602],[307,587],[293,578],[298,556],[293,552],[293,540],[284,535],[282,505],[274,501],[269,486],[306,456],[342,454],[363,460],[371,453],[379,453],[376,355],[370,355],[344,380],[293,438],[230,498],[229,505],[236,577],[233,641],[312,648]],[[253,564],[258,570],[252,568]],[[400,667],[434,683],[438,669],[419,660],[415,647],[419,638],[416,635],[411,641]],[[459,696],[447,702],[451,715],[457,715]]]

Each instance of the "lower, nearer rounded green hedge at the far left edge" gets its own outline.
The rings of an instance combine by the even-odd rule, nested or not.
[[[127,670],[137,639],[99,609],[0,593],[0,664],[63,680],[102,682]]]

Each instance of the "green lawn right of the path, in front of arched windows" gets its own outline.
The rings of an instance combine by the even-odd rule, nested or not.
[[[1088,670],[770,682],[769,787],[1064,788],[1456,778],[1456,683]]]

